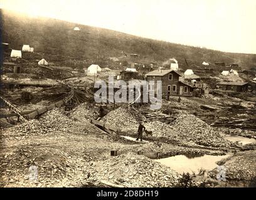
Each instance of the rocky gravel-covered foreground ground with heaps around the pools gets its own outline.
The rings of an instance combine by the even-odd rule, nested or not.
[[[155,133],[146,138],[149,143],[136,143],[118,134],[102,133],[88,121],[97,116],[97,111],[87,104],[82,106],[70,113],[53,109],[40,119],[3,129],[0,138],[1,187],[187,186],[183,184],[182,174],[138,153],[223,155],[234,148],[211,126],[187,113],[179,114],[172,124],[147,123],[158,124],[161,128],[151,126]],[[135,109],[122,107],[120,110],[122,112],[115,110],[114,114],[119,113],[115,118],[112,111],[104,119],[113,119],[109,122],[118,123],[120,127],[128,126],[131,121],[121,115],[131,114],[134,124],[129,131],[132,131],[136,129],[136,122],[144,118]],[[110,156],[112,150],[119,151],[119,156]],[[227,180],[252,181],[256,176],[255,158],[255,151],[245,151],[223,161]],[[33,181],[31,167],[36,167],[38,173]],[[216,181],[216,171],[210,174],[211,181]],[[218,186],[204,183],[205,180],[199,178],[192,185]]]

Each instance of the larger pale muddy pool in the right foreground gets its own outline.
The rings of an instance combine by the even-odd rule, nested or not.
[[[232,156],[232,154],[226,154],[224,156],[204,155],[195,158],[188,158],[188,156],[178,155],[169,158],[157,159],[156,161],[168,166],[171,169],[174,169],[181,174],[193,172],[198,174],[200,169],[211,170],[216,168],[218,166],[216,162],[223,158],[228,158],[228,156]]]

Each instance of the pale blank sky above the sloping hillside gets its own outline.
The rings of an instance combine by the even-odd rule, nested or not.
[[[0,0],[0,8],[162,41],[256,54],[255,0]]]

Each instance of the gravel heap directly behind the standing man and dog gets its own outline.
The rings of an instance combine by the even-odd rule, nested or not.
[[[144,121],[146,118],[139,111],[129,106],[121,106],[114,111],[108,113],[102,122],[115,126],[124,132],[136,132],[139,126],[139,121]]]

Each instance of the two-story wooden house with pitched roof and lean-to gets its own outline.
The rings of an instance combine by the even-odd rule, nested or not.
[[[147,81],[154,81],[154,84],[149,85],[149,88],[157,92],[157,81],[162,81],[162,95],[168,96],[192,96],[193,86],[184,81],[180,81],[179,77],[182,74],[173,69],[162,70],[157,69],[145,75]]]

